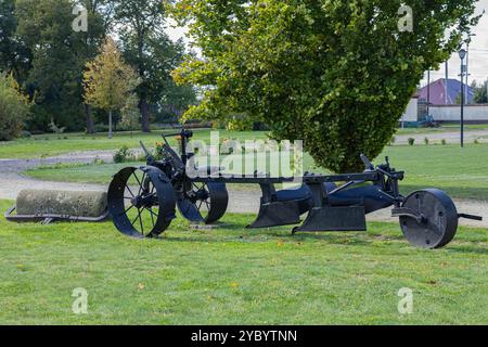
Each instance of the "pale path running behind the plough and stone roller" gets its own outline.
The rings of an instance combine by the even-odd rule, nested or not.
[[[42,159],[0,159],[0,200],[15,200],[18,192],[24,189],[104,191],[107,189],[107,185],[40,181],[22,175],[26,169],[36,168],[42,165],[54,165],[59,163],[92,163],[97,157],[110,163],[112,162],[112,152],[80,152]],[[228,210],[230,213],[257,215],[260,198],[258,189],[253,188],[248,191],[243,191],[230,188],[229,195],[230,205]],[[463,226],[488,228],[487,202],[455,201],[455,204],[461,213],[484,217],[483,222],[463,219],[461,220]],[[395,221],[389,214],[390,211],[385,209],[368,216],[368,219],[374,221]]]

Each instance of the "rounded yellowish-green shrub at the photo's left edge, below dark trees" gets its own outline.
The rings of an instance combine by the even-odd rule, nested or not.
[[[0,75],[0,141],[10,141],[21,136],[29,105],[18,91],[15,79]]]

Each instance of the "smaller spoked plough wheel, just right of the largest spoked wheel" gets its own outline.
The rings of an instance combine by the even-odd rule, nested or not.
[[[184,218],[196,223],[211,224],[227,211],[229,193],[224,183],[197,183],[188,180],[184,193],[178,196],[178,208]]]

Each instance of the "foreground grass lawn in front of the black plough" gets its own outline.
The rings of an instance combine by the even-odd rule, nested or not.
[[[1,210],[9,206],[0,202]],[[163,240],[102,224],[14,224],[0,217],[0,324],[487,324],[486,230],[445,249],[411,247],[397,223],[292,236],[178,219]],[[88,314],[72,312],[74,288]],[[413,313],[397,306],[413,291]]]

